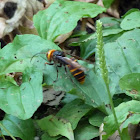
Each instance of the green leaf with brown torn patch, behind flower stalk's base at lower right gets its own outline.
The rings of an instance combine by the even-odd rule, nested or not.
[[[115,108],[118,123],[121,125],[121,130],[128,127],[131,124],[138,124],[140,122],[140,102],[139,101],[129,101],[120,104]],[[111,129],[110,129],[111,128]],[[106,140],[117,130],[113,114],[107,116],[104,119],[104,132],[103,140]]]

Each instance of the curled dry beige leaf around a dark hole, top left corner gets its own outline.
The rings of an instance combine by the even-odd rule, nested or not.
[[[6,13],[3,12],[7,2],[17,4],[14,16],[10,19],[7,17]],[[37,0],[0,0],[0,25],[2,27],[0,30],[0,37],[2,38],[5,35],[9,35],[19,26],[33,28],[32,17],[43,8],[43,4]]]

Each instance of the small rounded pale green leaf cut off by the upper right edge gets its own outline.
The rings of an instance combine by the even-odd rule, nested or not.
[[[131,30],[140,27],[140,11],[134,11],[126,15],[120,26],[123,30]]]

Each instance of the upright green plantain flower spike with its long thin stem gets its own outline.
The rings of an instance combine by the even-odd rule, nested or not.
[[[108,70],[107,70],[107,66],[106,66],[106,60],[105,60],[105,55],[104,55],[104,44],[103,44],[103,35],[102,35],[102,23],[100,21],[97,21],[96,24],[96,34],[97,34],[97,60],[98,60],[98,65],[99,65],[99,69],[100,72],[102,74],[102,78],[105,82],[106,88],[107,88],[107,93],[108,93],[108,97],[110,100],[110,105],[111,105],[111,109],[112,109],[112,113],[114,115],[114,120],[120,135],[121,140],[123,140],[122,138],[122,134],[121,134],[121,130],[120,130],[120,126],[117,120],[117,116],[116,116],[116,112],[114,109],[114,104],[112,101],[112,97],[111,97],[111,93],[110,93],[110,89],[109,89],[109,78],[108,78]]]

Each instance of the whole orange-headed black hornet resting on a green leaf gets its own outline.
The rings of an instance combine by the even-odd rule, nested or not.
[[[83,84],[85,81],[85,73],[84,68],[77,62],[74,58],[68,58],[65,56],[63,51],[58,50],[49,50],[47,52],[47,59],[50,63],[46,63],[49,65],[55,65],[57,70],[57,79],[58,79],[58,67],[64,66],[65,71],[67,72],[67,68],[70,70],[71,74],[75,77],[75,79]],[[53,63],[51,63],[53,61]],[[58,65],[59,64],[59,65]]]

